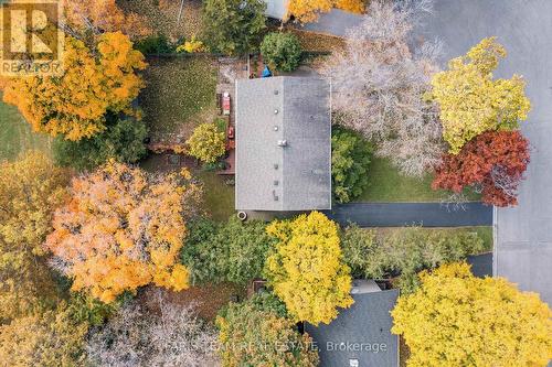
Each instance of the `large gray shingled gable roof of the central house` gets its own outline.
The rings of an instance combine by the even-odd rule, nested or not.
[[[331,208],[330,87],[310,77],[236,80],[236,209]],[[286,141],[286,147],[278,147]]]

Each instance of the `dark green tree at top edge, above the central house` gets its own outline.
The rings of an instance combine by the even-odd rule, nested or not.
[[[266,28],[266,3],[261,0],[203,2],[203,39],[215,52],[241,55],[258,50]]]

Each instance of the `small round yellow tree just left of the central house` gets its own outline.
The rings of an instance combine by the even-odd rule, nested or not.
[[[216,162],[226,151],[224,132],[219,132],[214,123],[198,126],[185,144],[188,154],[205,163]]]

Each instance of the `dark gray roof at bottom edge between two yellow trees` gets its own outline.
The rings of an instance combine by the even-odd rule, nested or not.
[[[357,359],[359,367],[399,366],[399,336],[391,334],[390,312],[399,290],[353,294],[354,304],[341,310],[329,325],[305,325],[320,356],[320,367],[349,367]],[[354,350],[358,349],[358,350]]]

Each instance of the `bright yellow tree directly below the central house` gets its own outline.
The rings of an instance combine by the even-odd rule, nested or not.
[[[312,212],[276,220],[266,230],[279,242],[266,260],[265,274],[295,321],[328,324],[338,307],[353,303],[350,269],[342,261],[332,220]]]

